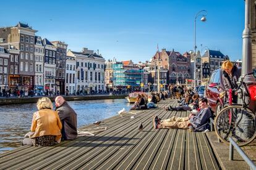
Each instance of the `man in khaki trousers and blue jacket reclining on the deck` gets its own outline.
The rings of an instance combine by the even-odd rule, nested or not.
[[[211,111],[208,108],[208,101],[206,98],[203,98],[199,102],[200,112],[197,115],[192,115],[185,118],[178,118],[173,116],[170,119],[158,119],[157,116],[153,117],[153,126],[155,129],[163,128],[179,128],[179,129],[188,129],[189,126],[192,126],[194,131],[205,131],[208,128],[208,122],[211,117]]]

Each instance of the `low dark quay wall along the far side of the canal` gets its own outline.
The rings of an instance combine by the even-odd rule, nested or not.
[[[41,96],[43,97],[43,96]],[[0,99],[0,105],[11,105],[19,103],[36,103],[41,97],[24,97],[24,98],[2,98]],[[67,101],[74,100],[101,100],[101,99],[124,99],[127,95],[85,95],[85,96],[63,96]],[[55,97],[49,97],[54,101]]]

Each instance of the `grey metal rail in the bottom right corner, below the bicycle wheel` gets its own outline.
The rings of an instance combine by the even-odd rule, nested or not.
[[[244,161],[250,166],[250,169],[256,169],[256,165],[250,158],[244,153],[244,151],[239,147],[234,140],[229,137],[229,161],[233,161],[234,159],[234,148],[236,148],[237,152],[244,159]]]

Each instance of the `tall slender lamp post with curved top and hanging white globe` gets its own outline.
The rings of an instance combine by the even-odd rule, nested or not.
[[[195,76],[196,76],[196,69],[195,69],[195,67],[196,67],[196,65],[195,65],[195,63],[196,63],[196,61],[195,61],[195,56],[196,56],[196,53],[197,53],[197,45],[196,45],[196,21],[197,21],[197,17],[199,17],[199,16],[202,16],[202,18],[201,18],[201,21],[202,22],[205,22],[206,21],[206,16],[207,16],[207,11],[206,10],[200,10],[199,12],[197,12],[197,14],[195,15],[195,19],[194,19],[194,89],[195,89],[195,86],[196,86],[196,78],[195,78]]]

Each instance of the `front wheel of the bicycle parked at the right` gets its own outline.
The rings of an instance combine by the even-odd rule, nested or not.
[[[229,137],[239,146],[249,144],[256,137],[255,127],[254,113],[242,105],[225,107],[215,118],[216,135],[225,144],[229,144]]]

